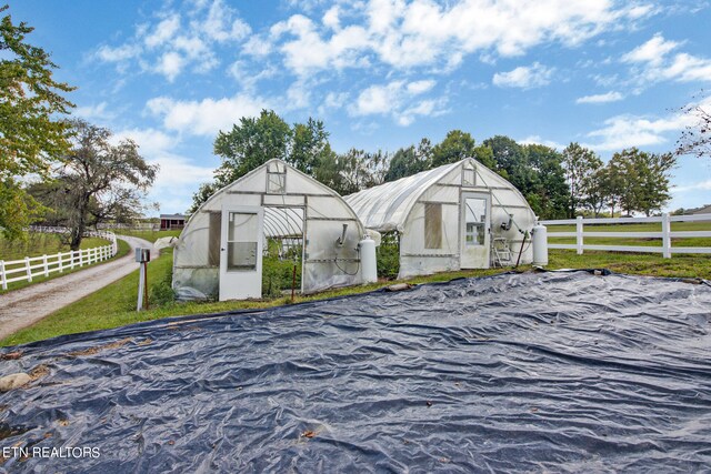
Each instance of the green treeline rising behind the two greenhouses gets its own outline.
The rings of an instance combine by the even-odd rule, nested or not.
[[[222,164],[214,181],[193,195],[194,211],[218,189],[268,160],[278,158],[336,190],[351,194],[421,171],[474,158],[509,180],[541,219],[579,213],[610,215],[641,212],[651,215],[669,201],[669,178],[675,165],[671,153],[638,149],[614,153],[604,164],[592,150],[571,143],[562,152],[542,144],[521,144],[495,135],[477,144],[470,133],[452,130],[440,143],[423,138],[394,153],[350,149],[337,153],[323,122],[309,118],[289,125],[273,111],[242,118],[232,130],[219,132],[214,153]],[[607,212],[605,212],[607,213]]]

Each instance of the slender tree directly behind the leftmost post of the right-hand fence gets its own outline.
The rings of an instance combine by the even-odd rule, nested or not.
[[[602,168],[602,160],[592,150],[578,143],[570,143],[563,150],[563,169],[570,189],[569,218],[575,216],[575,211],[587,201],[590,191],[599,191],[593,188],[598,184],[594,181],[594,174],[600,168]]]

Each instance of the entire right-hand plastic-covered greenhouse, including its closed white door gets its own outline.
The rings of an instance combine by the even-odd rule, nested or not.
[[[473,159],[343,198],[367,229],[399,244],[399,278],[530,263],[535,215],[505,179]],[[382,250],[381,250],[382,251]]]

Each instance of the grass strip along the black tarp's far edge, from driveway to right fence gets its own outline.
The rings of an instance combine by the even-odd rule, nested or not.
[[[158,236],[163,236],[163,234],[161,233]],[[548,269],[550,270],[607,268],[620,273],[675,278],[703,278],[711,280],[711,256],[709,255],[674,255],[672,259],[662,259],[661,255],[658,254],[585,252],[583,255],[577,255],[574,251],[554,250],[550,252],[549,260],[550,264]],[[172,249],[163,250],[161,252],[161,256],[149,264],[149,289],[153,299],[156,295],[164,294],[166,289],[169,288],[171,268]],[[519,271],[530,269],[530,265],[522,265],[519,268]],[[504,271],[509,271],[509,269],[445,272],[429,276],[418,276],[408,280],[408,282],[418,284],[449,281],[461,276],[483,276]],[[379,282],[369,285],[327,291],[316,295],[297,296],[296,302],[363,293],[392,283],[394,282]],[[84,297],[83,300],[57,311],[37,324],[0,341],[0,345],[22,344],[61,334],[117,327],[124,324],[177,315],[214,313],[289,304],[288,297],[278,297],[266,301],[202,303],[166,302],[159,305],[151,303],[152,305],[149,311],[138,313],[136,312],[137,297],[138,271],[117,283]]]

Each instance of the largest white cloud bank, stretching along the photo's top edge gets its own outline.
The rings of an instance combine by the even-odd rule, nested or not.
[[[394,69],[453,69],[474,52],[515,57],[544,43],[572,47],[655,12],[642,2],[539,0],[522,8],[491,0],[369,0],[340,2],[320,20],[294,14],[261,41],[281,51],[284,64],[301,75],[373,59]]]

